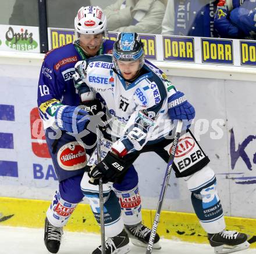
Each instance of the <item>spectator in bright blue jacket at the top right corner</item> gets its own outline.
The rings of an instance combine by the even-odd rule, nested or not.
[[[256,1],[219,0],[214,28],[222,38],[256,39]]]

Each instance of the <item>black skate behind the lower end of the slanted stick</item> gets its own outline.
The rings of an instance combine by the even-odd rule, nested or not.
[[[125,230],[127,231],[129,237],[131,238],[132,244],[147,248],[148,241],[150,241],[150,234],[151,234],[150,228],[140,223],[140,224],[137,224],[136,226],[125,225]],[[159,240],[160,240],[159,235],[156,234],[153,249],[161,249]]]

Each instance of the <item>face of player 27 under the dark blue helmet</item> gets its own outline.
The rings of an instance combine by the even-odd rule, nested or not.
[[[125,79],[133,79],[136,77],[138,70],[140,70],[140,60],[136,61],[119,61],[118,67]]]

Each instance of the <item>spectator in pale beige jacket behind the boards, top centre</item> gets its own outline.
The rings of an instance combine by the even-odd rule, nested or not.
[[[104,12],[109,31],[161,34],[165,6],[159,0],[118,0]]]

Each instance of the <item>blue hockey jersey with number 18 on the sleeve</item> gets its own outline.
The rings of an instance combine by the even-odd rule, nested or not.
[[[98,55],[112,53],[113,41],[102,43]],[[44,129],[55,122],[59,105],[79,106],[80,97],[74,88],[74,65],[87,57],[76,43],[50,50],[44,58],[38,82],[37,104]]]

